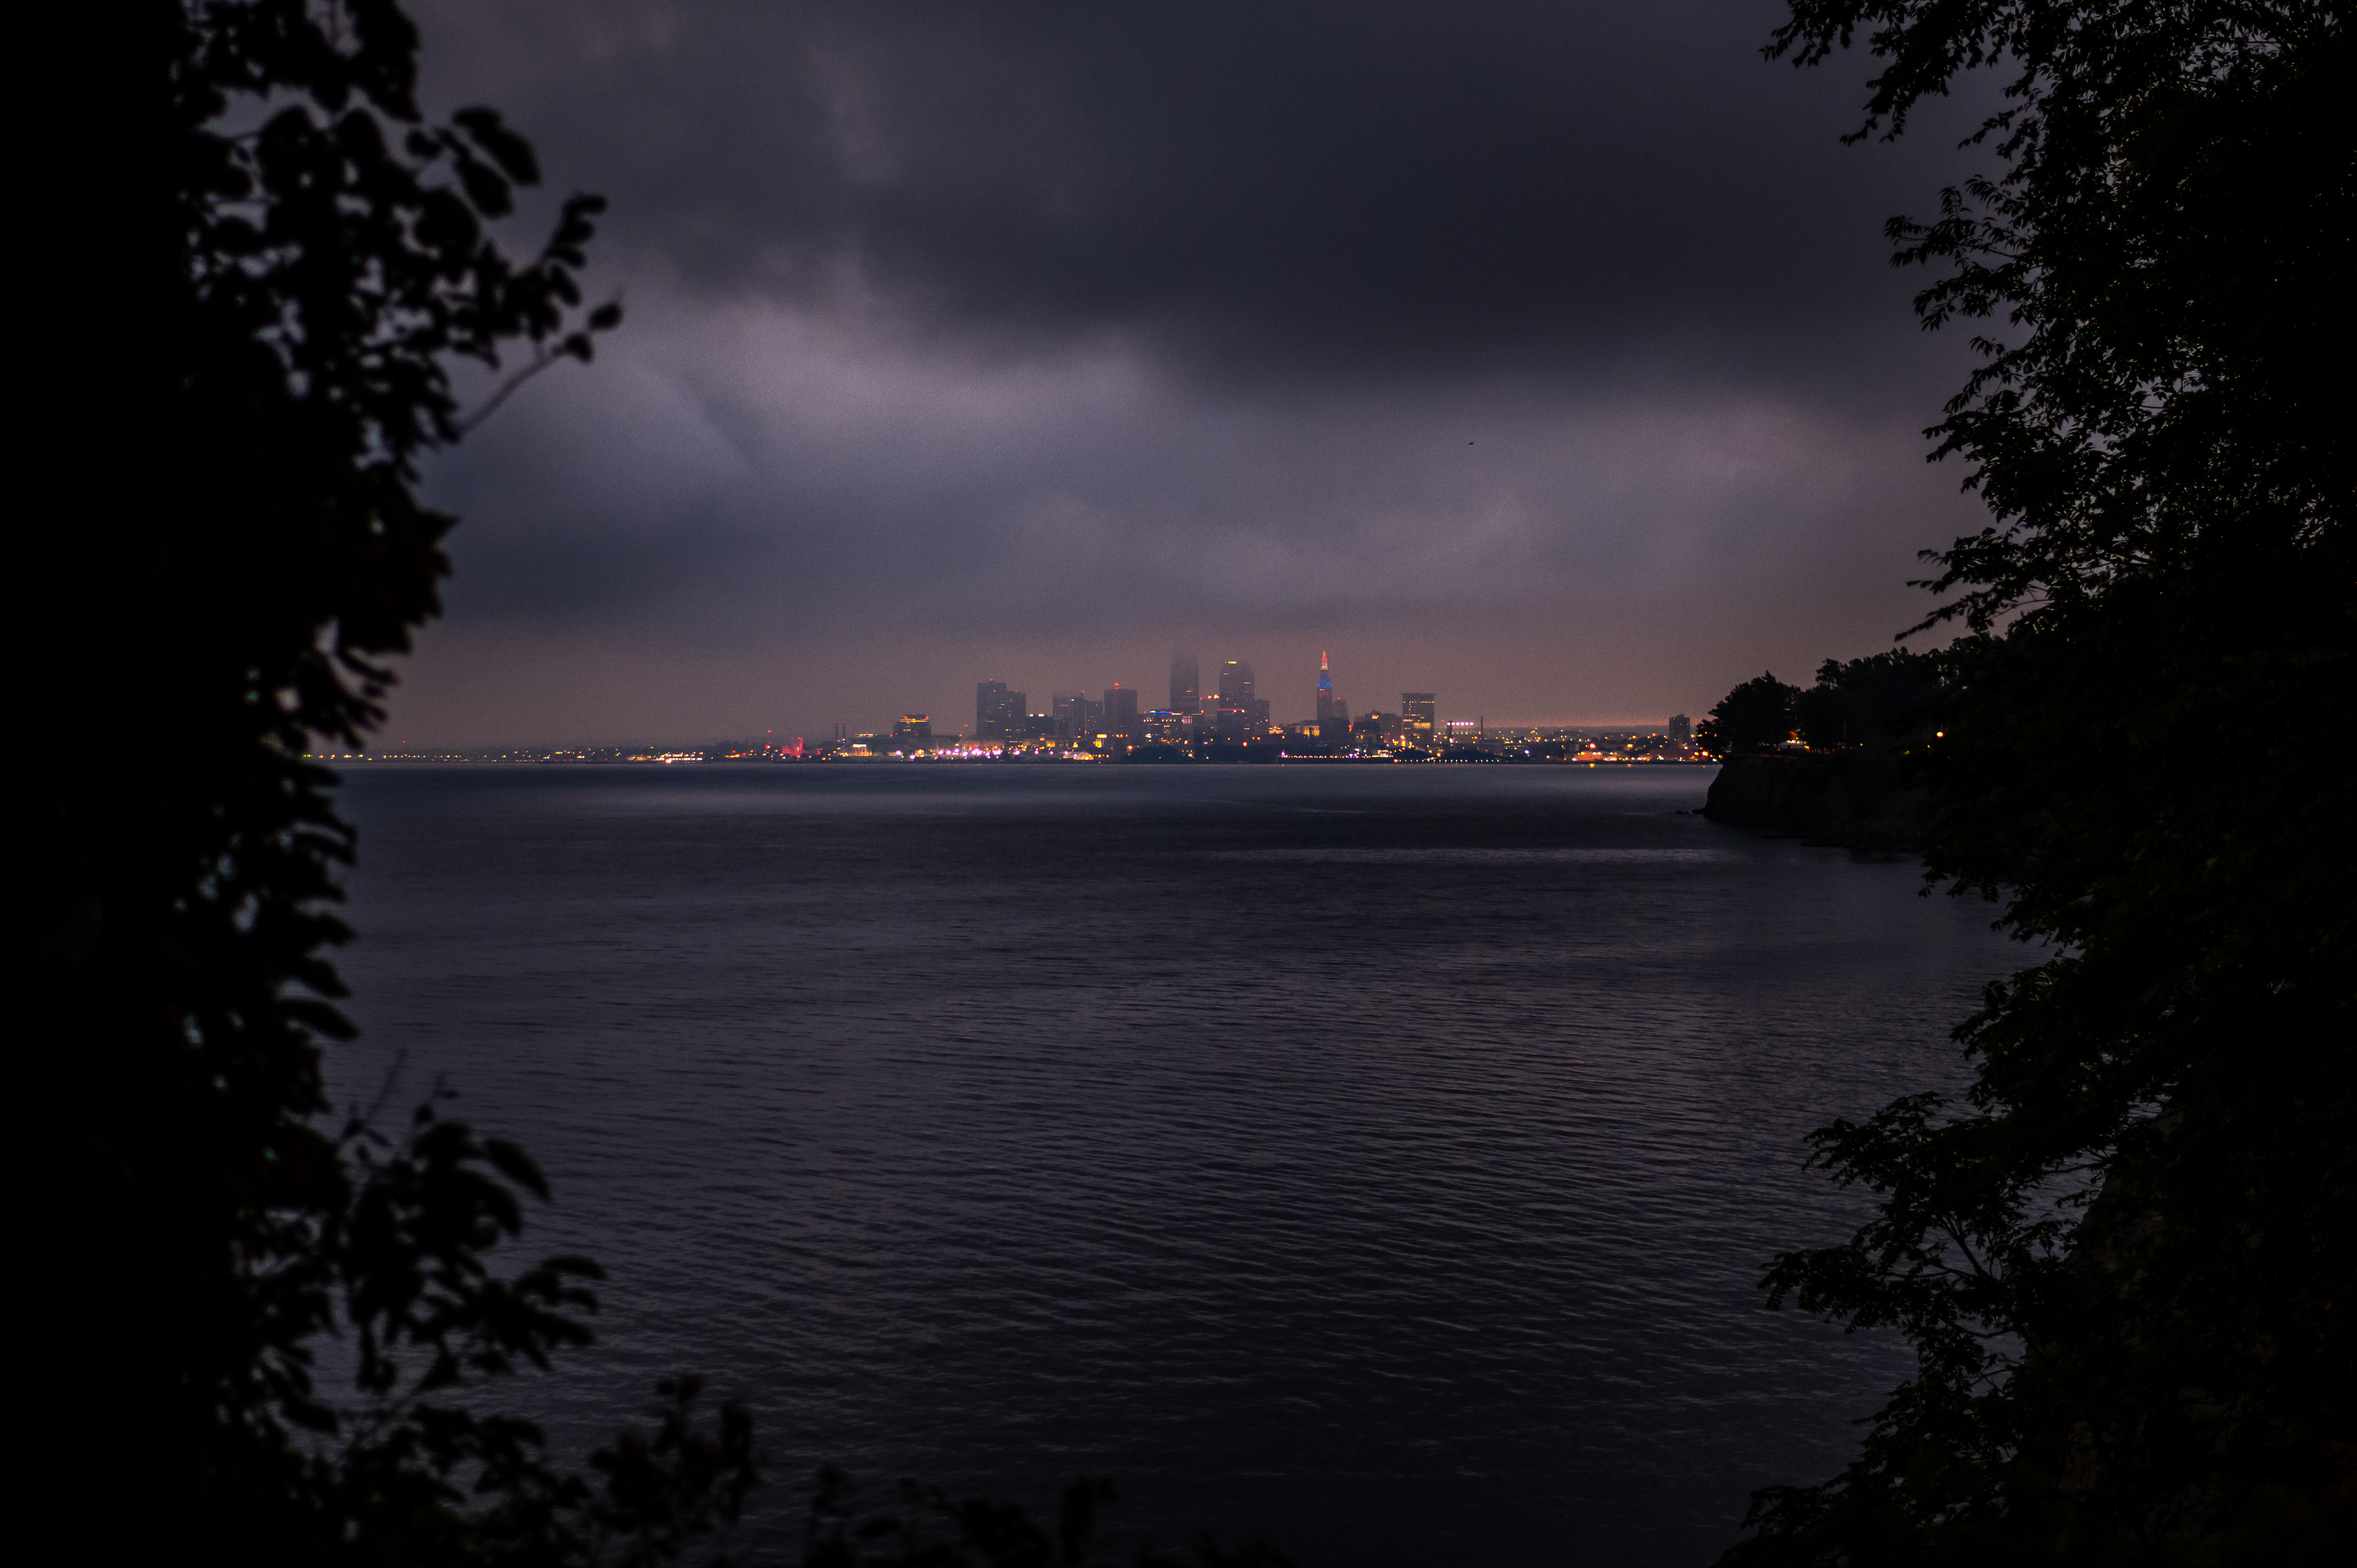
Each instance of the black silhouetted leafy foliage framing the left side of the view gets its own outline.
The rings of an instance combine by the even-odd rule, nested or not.
[[[740,1417],[688,1438],[679,1403],[660,1483],[629,1441],[606,1488],[552,1471],[478,1398],[587,1339],[592,1264],[493,1259],[540,1172],[434,1106],[398,1141],[325,1120],[354,832],[302,762],[436,611],[453,358],[528,373],[618,321],[575,283],[599,203],[511,262],[486,224],[533,153],[420,118],[389,0],[80,7],[45,42],[106,61],[113,139],[68,139],[104,200],[52,266],[92,337],[40,455],[85,495],[28,538],[42,1474],[130,1561],[665,1556],[740,1502]]]

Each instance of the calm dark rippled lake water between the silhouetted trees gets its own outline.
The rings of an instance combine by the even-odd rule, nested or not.
[[[1704,1563],[1904,1372],[1763,1309],[1836,1113],[1961,1082],[1992,910],[1704,769],[372,766],[339,1099],[523,1141],[601,1344],[702,1370],[745,1547],[820,1462],[1303,1568]],[[398,1120],[394,1115],[391,1120]]]

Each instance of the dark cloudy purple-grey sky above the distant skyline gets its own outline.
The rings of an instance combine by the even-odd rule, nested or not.
[[[429,97],[603,191],[625,328],[429,493],[389,740],[971,722],[1318,651],[1353,710],[1659,722],[1888,646],[1978,526],[1881,222],[1961,106],[1770,0],[431,0]],[[528,236],[519,231],[519,241]]]

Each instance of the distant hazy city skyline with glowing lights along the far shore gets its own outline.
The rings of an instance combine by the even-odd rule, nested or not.
[[[905,712],[889,731],[837,724],[820,740],[761,736],[676,747],[493,747],[453,752],[313,755],[316,762],[1697,762],[1695,726],[1673,714],[1659,729],[1492,726],[1485,717],[1440,719],[1440,693],[1402,691],[1395,712],[1351,717],[1334,665],[1318,655],[1313,712],[1277,724],[1252,665],[1230,658],[1204,691],[1193,653],[1171,658],[1169,705],[1146,707],[1120,681],[1089,696],[1056,691],[1044,707],[1006,681],[976,681],[973,724]]]

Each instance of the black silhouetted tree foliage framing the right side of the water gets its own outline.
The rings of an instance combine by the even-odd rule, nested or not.
[[[1893,236],[1926,323],[1985,323],[1933,431],[1994,523],[1935,556],[1928,865],[2041,962],[1963,1103],[1815,1134],[1879,1212],[1768,1287],[1916,1375],[1730,1561],[2348,1561],[2345,14],[1796,0],[1772,52],[1857,31],[1869,132],[2011,73],[2001,172]]]

